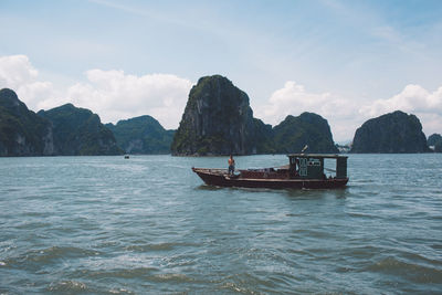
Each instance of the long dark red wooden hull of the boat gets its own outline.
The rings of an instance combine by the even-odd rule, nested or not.
[[[347,185],[344,179],[291,179],[229,177],[219,169],[192,168],[207,185],[217,187],[265,188],[265,189],[335,189]]]

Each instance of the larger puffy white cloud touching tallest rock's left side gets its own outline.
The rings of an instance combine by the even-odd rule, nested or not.
[[[66,96],[104,122],[150,115],[165,128],[177,128],[192,83],[170,74],[128,75],[123,71],[91,70],[88,83],[77,83]]]

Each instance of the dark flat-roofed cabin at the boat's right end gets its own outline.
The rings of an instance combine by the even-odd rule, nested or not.
[[[322,155],[322,154],[291,154],[287,155],[290,161],[291,178],[302,179],[326,179],[325,170],[335,173],[336,179],[347,178],[347,156]],[[335,159],[336,169],[325,168],[325,159]]]

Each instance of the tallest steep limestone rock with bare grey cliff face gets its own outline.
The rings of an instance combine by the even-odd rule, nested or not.
[[[201,77],[192,87],[173,155],[250,155],[256,151],[249,96],[228,78]]]

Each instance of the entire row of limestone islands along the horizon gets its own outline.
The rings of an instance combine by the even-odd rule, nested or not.
[[[12,89],[0,91],[1,157],[291,154],[305,146],[308,152],[442,152],[442,136],[427,139],[417,116],[397,110],[364,123],[351,144],[336,145],[328,122],[314,113],[273,127],[254,118],[248,94],[221,75],[191,88],[177,130],[148,115],[104,125],[72,104],[35,114]]]

